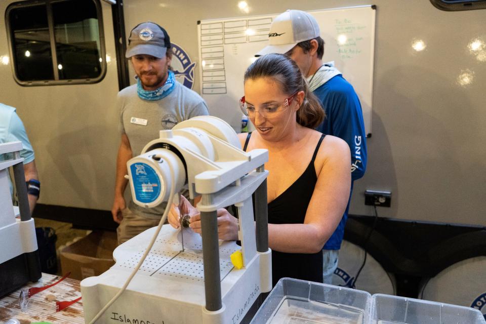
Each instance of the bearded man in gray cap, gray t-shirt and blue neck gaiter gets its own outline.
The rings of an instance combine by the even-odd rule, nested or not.
[[[127,207],[124,198],[127,161],[139,155],[149,141],[158,138],[160,130],[172,129],[180,121],[209,114],[203,98],[176,81],[170,68],[171,41],[164,28],[150,21],[135,26],[125,56],[132,62],[137,83],[121,90],[116,101],[121,143],[111,214],[120,224],[118,244],[157,226],[166,208],[166,204],[143,208],[133,199]]]

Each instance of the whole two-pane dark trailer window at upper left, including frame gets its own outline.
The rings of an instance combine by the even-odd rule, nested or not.
[[[96,83],[106,73],[98,0],[13,3],[6,18],[19,84]]]

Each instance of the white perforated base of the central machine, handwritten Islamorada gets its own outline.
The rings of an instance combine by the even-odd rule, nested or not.
[[[98,313],[125,283],[140,259],[155,228],[128,240],[113,252],[116,264],[105,273],[81,281],[85,321]],[[218,311],[205,308],[203,255],[200,246],[188,244],[180,252],[178,230],[164,225],[150,254],[127,290],[95,324],[124,321],[166,324],[239,323],[260,293],[271,289],[271,252],[257,253],[242,269],[233,268],[230,254],[240,247],[220,242],[221,297]],[[196,234],[198,235],[198,234]],[[121,321],[120,321],[121,322]]]

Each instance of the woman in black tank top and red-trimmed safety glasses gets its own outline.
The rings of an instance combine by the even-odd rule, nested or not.
[[[321,250],[348,201],[349,147],[314,130],[323,109],[297,65],[284,55],[262,56],[248,68],[240,107],[256,127],[256,132],[239,134],[242,148],[269,152],[265,168],[273,285],[282,277],[322,282]],[[171,210],[169,218],[176,227],[178,215]],[[197,216],[190,226],[201,232]],[[237,239],[237,231],[238,221],[218,211],[220,238]]]

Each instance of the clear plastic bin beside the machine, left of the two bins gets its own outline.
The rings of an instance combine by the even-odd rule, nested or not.
[[[360,290],[282,278],[251,324],[361,324],[369,322],[371,295]]]

